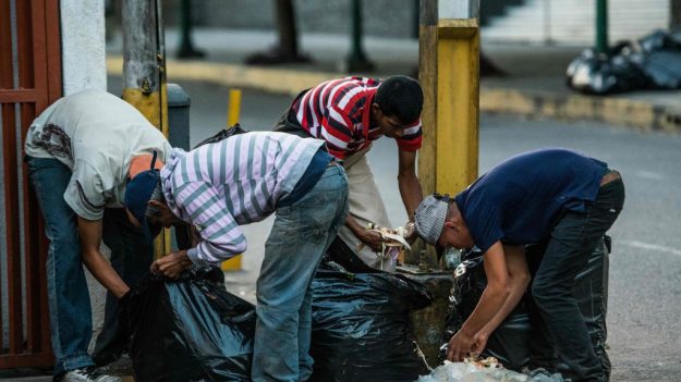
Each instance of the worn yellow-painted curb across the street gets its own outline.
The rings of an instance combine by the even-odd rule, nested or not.
[[[341,73],[301,72],[285,69],[251,67],[242,64],[202,61],[168,61],[168,77],[209,82],[226,87],[244,87],[288,96]],[[107,73],[123,74],[123,58],[107,57]],[[666,108],[617,97],[558,95],[540,90],[482,86],[479,110],[532,118],[588,120],[635,127],[642,131],[681,133],[681,108]]]

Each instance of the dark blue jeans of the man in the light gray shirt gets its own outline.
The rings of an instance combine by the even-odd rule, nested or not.
[[[63,198],[71,181],[71,170],[56,159],[26,157],[26,162],[50,242],[47,257],[48,304],[56,357],[54,375],[60,375],[95,365],[87,354],[93,333],[92,308],[81,258],[77,215]],[[105,210],[102,237],[111,249],[111,264],[125,283],[133,285],[148,271],[154,248],[145,244],[142,232],[130,224],[123,209]],[[113,346],[118,345],[114,343],[117,330],[117,299],[109,293],[96,354],[120,356],[122,349]],[[111,360],[111,356],[106,359]]]

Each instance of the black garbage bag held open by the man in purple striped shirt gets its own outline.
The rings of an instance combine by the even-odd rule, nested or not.
[[[191,268],[177,281],[148,274],[132,291],[134,377],[149,381],[251,379],[255,308],[224,289],[220,269]]]

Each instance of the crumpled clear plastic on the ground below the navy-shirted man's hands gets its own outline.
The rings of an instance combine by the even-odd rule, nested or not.
[[[563,382],[560,374],[537,370],[528,374],[503,368],[478,368],[466,362],[449,362],[436,368],[417,382]]]

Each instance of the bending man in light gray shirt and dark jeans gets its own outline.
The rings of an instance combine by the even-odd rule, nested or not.
[[[163,135],[135,108],[106,91],[64,97],[28,128],[28,174],[50,241],[48,301],[58,381],[118,380],[96,373],[87,354],[93,328],[83,264],[109,291],[95,348],[101,355],[97,362],[106,363],[120,356],[112,349],[118,298],[154,258],[153,245],[122,208],[131,173],[148,169],[154,151],[160,168],[170,152]],[[111,263],[100,252],[102,239],[111,249]]]

